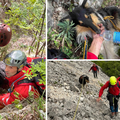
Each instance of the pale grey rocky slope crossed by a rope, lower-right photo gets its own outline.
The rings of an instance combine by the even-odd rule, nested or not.
[[[98,78],[94,78],[93,73],[88,72],[92,64],[90,61],[48,62],[47,120],[73,120],[77,104],[75,120],[111,119],[106,99],[107,89],[102,95],[102,101],[96,102],[100,85],[108,81],[109,77],[99,67]],[[90,80],[84,89],[79,84],[82,74],[86,74]],[[120,115],[114,119],[120,119]]]

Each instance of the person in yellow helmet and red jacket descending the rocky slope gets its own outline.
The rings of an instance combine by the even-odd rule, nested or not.
[[[119,100],[119,87],[120,82],[117,81],[115,76],[111,76],[110,80],[107,81],[99,91],[99,97],[97,98],[97,102],[102,100],[101,96],[103,94],[104,89],[108,88],[107,100],[109,101],[110,110],[111,110],[111,118],[118,114],[118,100]]]

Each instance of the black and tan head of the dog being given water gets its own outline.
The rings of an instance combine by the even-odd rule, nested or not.
[[[101,31],[98,24],[101,23],[101,17],[93,8],[86,7],[86,2],[87,0],[84,0],[81,6],[69,13],[71,20],[73,20],[75,25],[86,27],[100,34]]]

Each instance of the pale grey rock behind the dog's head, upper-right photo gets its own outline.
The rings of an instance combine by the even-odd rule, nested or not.
[[[48,0],[47,1],[47,27],[57,28],[58,21],[68,15],[70,6],[79,6],[84,0]],[[99,9],[103,0],[87,0],[89,7]]]

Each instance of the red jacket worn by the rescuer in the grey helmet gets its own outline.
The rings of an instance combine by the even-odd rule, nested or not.
[[[31,63],[33,59],[36,58],[27,58],[27,62]],[[29,70],[29,67],[24,66],[22,70]],[[33,91],[34,92],[34,96],[35,97],[39,97],[39,93],[37,91],[37,89],[35,89],[35,83],[21,83],[21,84],[17,84],[20,80],[23,80],[25,78],[24,76],[25,73],[23,73],[22,71],[20,71],[18,74],[7,78],[9,82],[9,87],[12,86],[13,89],[11,89],[12,91],[10,93],[6,93],[3,95],[0,95],[0,103],[4,104],[4,105],[8,105],[8,104],[12,104],[12,102],[15,99],[19,99],[22,100],[24,98],[27,98],[29,96],[29,92]],[[39,84],[39,82],[38,82]],[[45,89],[45,86],[43,84],[41,84],[42,88]],[[17,93],[18,96],[16,96],[14,93]]]

